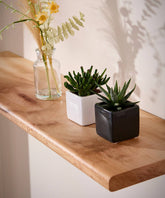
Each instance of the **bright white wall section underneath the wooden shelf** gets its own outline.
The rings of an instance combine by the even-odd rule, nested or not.
[[[165,176],[109,192],[32,136],[29,144],[31,198],[164,198]]]

